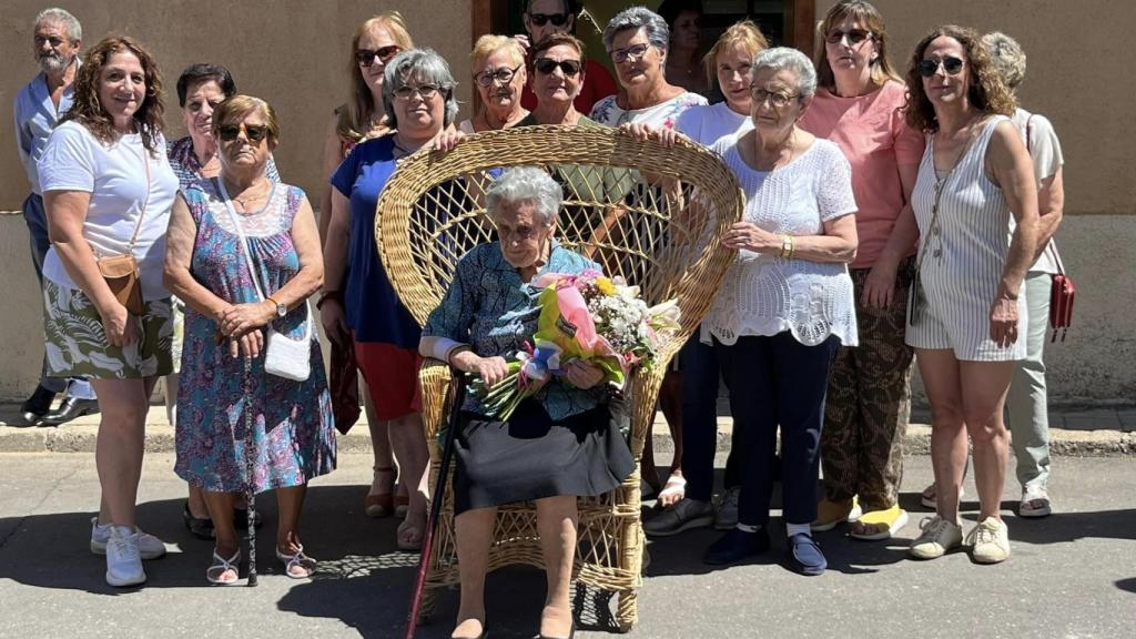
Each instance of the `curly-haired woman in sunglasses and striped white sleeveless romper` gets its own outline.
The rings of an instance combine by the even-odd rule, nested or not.
[[[976,562],[997,563],[1010,556],[999,514],[1009,458],[1002,407],[1026,355],[1022,282],[1038,249],[1033,163],[1006,117],[1013,94],[975,31],[949,25],[924,38],[908,85],[909,123],[928,138],[912,193],[922,240],[907,342],[932,406],[938,497],[910,553],[929,559],[962,543],[969,434],[980,509],[967,541]]]

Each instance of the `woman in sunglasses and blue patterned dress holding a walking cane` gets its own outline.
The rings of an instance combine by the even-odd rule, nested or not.
[[[233,493],[249,482],[276,491],[276,556],[289,576],[303,579],[315,571],[298,532],[307,482],[335,467],[331,397],[307,306],[323,280],[319,234],[303,191],[267,177],[279,135],[270,106],[245,96],[225,100],[214,113],[214,135],[220,175],[183,192],[167,238],[166,282],[187,305],[175,471],[204,491],[217,539],[210,582],[237,580]],[[308,340],[307,380],[265,371],[269,325],[276,339]]]

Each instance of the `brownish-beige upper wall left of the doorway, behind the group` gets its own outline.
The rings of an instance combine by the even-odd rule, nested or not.
[[[453,65],[459,99],[469,100],[469,2],[415,0],[5,0],[0,13],[0,209],[17,209],[27,180],[19,167],[11,127],[16,93],[37,68],[32,59],[32,20],[60,2],[83,23],[94,45],[109,32],[137,38],[158,60],[166,84],[168,138],[184,135],[175,84],[182,69],[211,61],[228,67],[242,93],[276,107],[284,135],[276,158],[286,182],[315,193],[320,149],[332,109],[344,101],[346,57],[356,26],[373,14],[398,8],[420,45],[437,49]],[[312,200],[318,198],[312,197]]]

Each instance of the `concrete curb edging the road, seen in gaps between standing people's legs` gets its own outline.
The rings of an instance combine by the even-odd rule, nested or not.
[[[147,453],[172,453],[175,450],[174,429],[165,421],[153,420],[159,410],[151,410],[147,424]],[[718,450],[729,450],[733,422],[718,421]],[[98,434],[98,417],[86,416],[60,428],[20,428],[0,425],[0,454],[2,453],[94,453]],[[1134,457],[1136,458],[1136,432],[1120,430],[1050,430],[1052,455],[1076,457]],[[659,453],[674,451],[674,442],[667,432],[666,422],[655,423],[654,449]],[[370,433],[366,423],[356,424],[346,435],[339,435],[339,450],[343,454],[369,454]],[[907,455],[927,455],[930,451],[930,426],[910,424],[904,439]]]

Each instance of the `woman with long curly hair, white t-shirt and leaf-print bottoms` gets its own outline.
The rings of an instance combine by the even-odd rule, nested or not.
[[[87,52],[75,106],[39,164],[51,238],[43,264],[48,365],[56,375],[90,376],[99,396],[102,500],[91,550],[106,554],[111,586],[144,582],[141,559],[166,551],[135,525],[148,398],[173,368],[161,266],[177,177],[161,105],[150,53],[130,38],[107,38]],[[137,262],[140,314],[116,298],[99,268],[100,259],[124,255]]]

